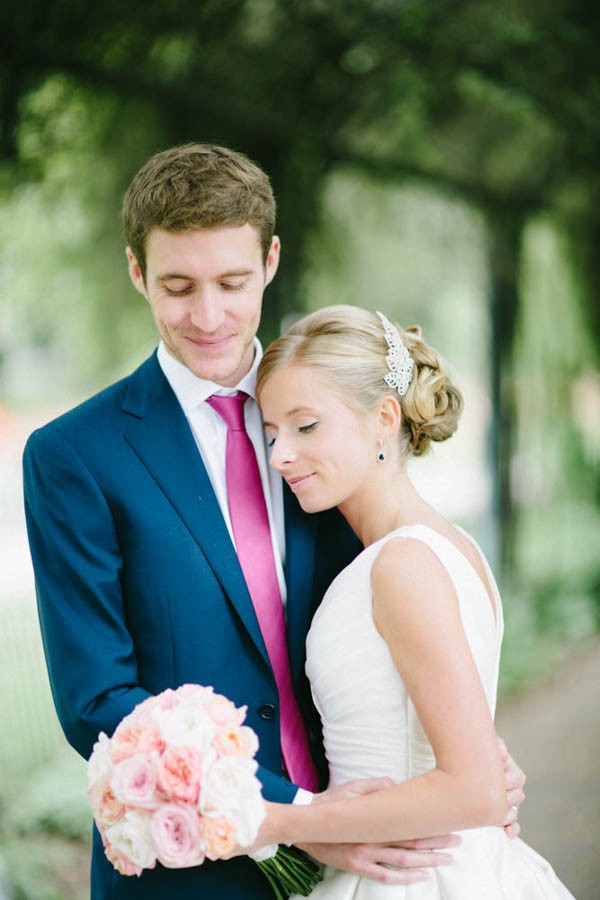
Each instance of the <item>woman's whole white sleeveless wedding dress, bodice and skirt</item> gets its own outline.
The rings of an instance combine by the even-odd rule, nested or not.
[[[371,616],[370,571],[393,537],[423,541],[444,566],[458,596],[471,652],[492,710],[496,704],[502,607],[493,575],[492,608],[469,560],[424,525],[398,529],[367,547],[333,582],[313,620],[306,671],[323,721],[330,785],[387,775],[405,781],[432,769],[435,758],[387,645]],[[483,559],[483,557],[482,557]],[[454,862],[430,870],[428,881],[383,885],[326,869],[313,900],[573,900],[552,867],[502,828],[460,833]]]

